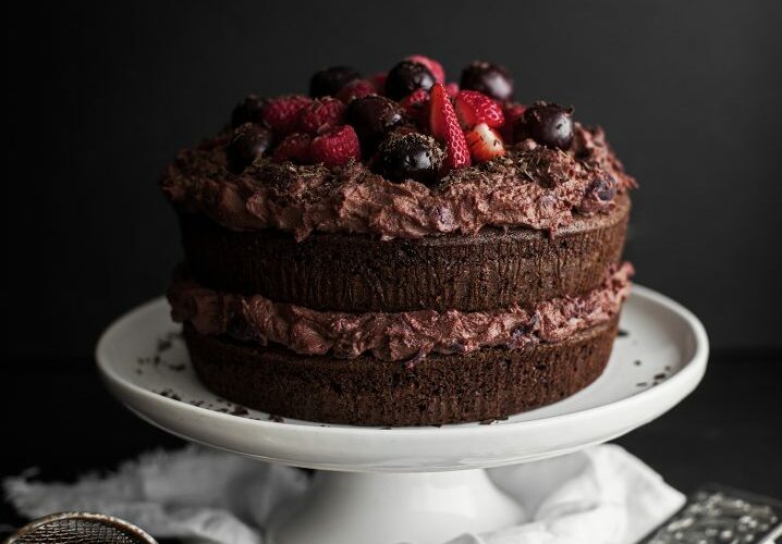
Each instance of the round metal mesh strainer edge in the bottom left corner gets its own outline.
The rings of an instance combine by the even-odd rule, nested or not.
[[[106,514],[61,512],[30,521],[3,544],[157,544],[136,526]]]

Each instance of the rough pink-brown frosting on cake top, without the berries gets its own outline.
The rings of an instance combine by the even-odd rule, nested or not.
[[[431,187],[393,183],[367,164],[294,165],[259,158],[241,174],[225,164],[227,136],[183,150],[160,182],[169,199],[236,231],[279,228],[420,238],[482,226],[554,233],[574,213],[608,212],[616,191],[634,187],[601,128],[576,123],[571,150],[527,139],[504,157],[452,171]]]

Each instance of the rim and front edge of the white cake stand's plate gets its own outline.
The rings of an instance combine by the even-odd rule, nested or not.
[[[319,426],[311,422],[279,423],[221,413],[161,396],[120,375],[115,366],[131,364],[132,361],[119,361],[111,347],[119,339],[133,339],[127,337],[129,323],[133,320],[161,311],[168,313],[162,297],[140,305],[114,321],[101,335],[96,347],[96,358],[101,376],[112,394],[132,411],[166,431],[201,444],[266,461],[327,470],[418,471],[487,468],[545,458],[547,447],[551,455],[558,455],[557,452],[575,450],[611,440],[664,413],[697,386],[706,371],[709,350],[702,324],[679,302],[639,285],[634,285],[631,299],[625,305],[625,313],[628,310],[637,311],[634,309],[636,305],[650,305],[651,311],[660,312],[668,319],[677,319],[682,323],[680,333],[689,338],[692,345],[669,346],[689,353],[688,360],[682,362],[675,374],[659,385],[612,403],[569,413],[542,416],[526,421],[503,421],[492,425],[456,424],[386,430],[377,426]],[[577,395],[589,395],[590,387]],[[560,403],[564,401],[567,399]],[[560,403],[539,410],[550,409]],[[584,426],[591,425],[596,426],[591,432],[585,431]],[[530,446],[528,443],[545,441],[547,436],[565,430],[576,431],[570,442],[558,436],[558,443],[549,446],[540,443]],[[257,443],[252,438],[247,442],[246,437],[240,440],[237,434],[247,432],[257,435]],[[344,440],[351,440],[352,444],[342,442]],[[471,444],[475,441],[480,441],[482,448]],[[520,445],[517,455],[511,455],[513,443]],[[355,444],[361,444],[361,450],[350,452],[351,445]],[[338,452],[340,447],[343,452]],[[522,452],[525,447],[526,453]],[[410,448],[415,448],[416,452],[408,452]],[[439,462],[429,458],[427,452],[431,449],[440,450]],[[402,452],[407,452],[407,455]],[[337,455],[340,453],[344,454],[344,458]]]

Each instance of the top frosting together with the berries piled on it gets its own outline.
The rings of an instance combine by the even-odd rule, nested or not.
[[[248,97],[234,128],[180,152],[161,186],[182,211],[301,240],[555,232],[574,214],[611,211],[635,185],[601,129],[555,104],[512,101],[501,66],[471,64],[461,90],[442,83],[439,64],[414,57],[371,79],[321,71],[315,98]]]

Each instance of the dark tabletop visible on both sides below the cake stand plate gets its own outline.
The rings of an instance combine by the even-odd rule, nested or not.
[[[90,360],[7,361],[0,477],[28,467],[69,481],[184,442],[143,422],[103,388]],[[656,421],[615,442],[673,486],[719,482],[782,497],[782,353],[717,354],[700,386]],[[0,522],[23,522],[0,503]]]

